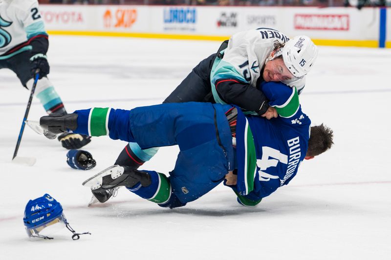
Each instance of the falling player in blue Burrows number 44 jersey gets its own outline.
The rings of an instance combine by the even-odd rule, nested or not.
[[[244,115],[228,104],[190,102],[132,110],[77,110],[66,116],[42,117],[40,124],[55,134],[71,130],[89,136],[109,135],[114,140],[137,142],[143,149],[179,146],[169,177],[114,165],[84,182],[93,193],[126,186],[144,199],[174,208],[196,200],[225,180],[241,204],[253,206],[288,184],[304,159],[325,152],[332,144],[330,129],[311,127],[295,87],[264,82],[261,90],[279,110],[278,118]]]

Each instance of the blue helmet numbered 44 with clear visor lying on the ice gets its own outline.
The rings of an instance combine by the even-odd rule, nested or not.
[[[29,200],[27,202],[24,210],[23,222],[29,237],[53,239],[47,235],[52,235],[64,227],[73,233],[73,240],[78,240],[79,235],[81,235],[76,233],[69,226],[60,202],[47,193],[40,198]],[[53,226],[54,224],[57,225]],[[87,232],[82,234],[90,233]]]

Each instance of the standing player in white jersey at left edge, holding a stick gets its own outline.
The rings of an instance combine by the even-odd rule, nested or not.
[[[66,114],[60,96],[46,77],[50,67],[46,52],[49,46],[37,0],[0,0],[0,69],[16,73],[22,85],[31,89],[39,69],[35,96],[48,114]],[[67,149],[77,149],[90,138],[79,134],[59,137]]]

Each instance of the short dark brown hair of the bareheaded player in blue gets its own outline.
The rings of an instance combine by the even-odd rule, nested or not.
[[[311,126],[306,156],[320,155],[330,149],[332,144],[333,130],[324,124]]]

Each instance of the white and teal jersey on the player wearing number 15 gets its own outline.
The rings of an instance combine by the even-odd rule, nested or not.
[[[217,94],[217,80],[235,79],[256,87],[276,40],[284,43],[289,38],[275,29],[258,28],[239,32],[229,39],[223,58],[216,58],[211,71],[212,93],[216,102],[224,103]],[[295,84],[299,93],[304,88],[304,83],[303,78]]]

